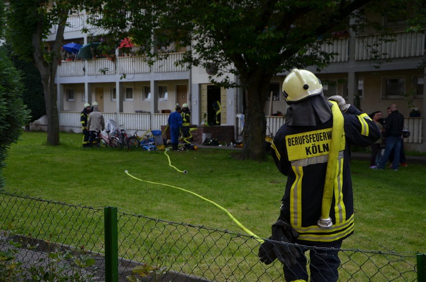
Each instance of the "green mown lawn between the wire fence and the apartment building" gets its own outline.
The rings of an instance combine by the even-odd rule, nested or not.
[[[188,171],[184,175],[168,165],[164,151],[86,149],[81,148],[81,135],[74,133],[61,133],[60,139],[61,146],[50,147],[45,144],[45,132],[25,132],[9,151],[3,172],[6,190],[70,204],[116,206],[152,218],[244,233],[211,203],[177,189],[136,181],[124,173],[128,170],[137,178],[215,201],[260,237],[270,235],[279,214],[286,178],[272,158],[265,163],[242,162],[233,157],[238,152],[223,149],[168,152],[173,166]],[[368,168],[368,161],[353,160],[355,234],[342,247],[425,252],[425,174],[424,165],[398,172],[375,171]],[[132,242],[143,244],[137,231],[131,233],[133,239],[123,248]],[[155,242],[155,237],[158,234],[149,240]],[[141,256],[138,251],[132,255]]]

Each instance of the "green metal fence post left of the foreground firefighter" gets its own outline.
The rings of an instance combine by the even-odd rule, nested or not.
[[[104,207],[105,282],[118,282],[117,208]]]

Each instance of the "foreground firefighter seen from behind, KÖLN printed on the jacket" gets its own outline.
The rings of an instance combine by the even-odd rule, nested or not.
[[[266,264],[278,258],[286,281],[337,281],[338,250],[354,231],[349,146],[370,146],[380,131],[341,96],[328,101],[320,80],[307,70],[292,70],[283,93],[290,107],[271,154],[287,184],[270,239],[303,246],[266,240],[259,257]]]

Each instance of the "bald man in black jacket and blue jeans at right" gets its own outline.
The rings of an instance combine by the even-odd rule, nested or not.
[[[380,159],[378,169],[384,169],[393,149],[392,170],[397,171],[402,143],[402,128],[404,127],[404,116],[398,111],[395,104],[389,107],[390,114],[385,119],[384,136],[386,146],[384,154]]]

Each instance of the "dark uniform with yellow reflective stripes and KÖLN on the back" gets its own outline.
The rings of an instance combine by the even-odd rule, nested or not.
[[[354,230],[353,195],[350,176],[350,145],[370,146],[380,137],[377,125],[367,114],[351,105],[343,113],[343,136],[340,140],[330,218],[333,225],[320,228],[322,198],[328,163],[333,119],[316,126],[284,124],[271,146],[279,171],[287,176],[282,198],[281,217],[299,233],[297,243],[308,246],[340,248],[344,238]],[[306,257],[300,249],[298,264],[284,265],[288,281],[308,280]],[[340,260],[336,251],[311,249],[311,278],[313,281],[335,281]],[[325,265],[326,264],[326,265]]]

